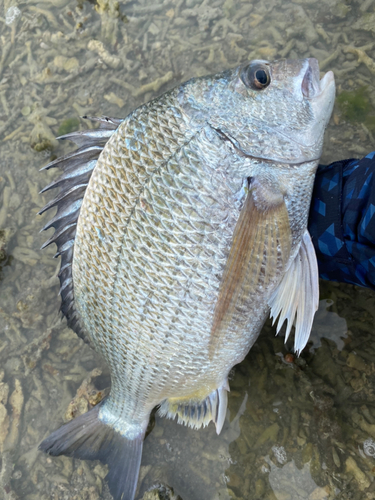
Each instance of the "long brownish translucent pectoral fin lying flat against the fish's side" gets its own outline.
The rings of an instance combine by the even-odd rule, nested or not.
[[[284,196],[253,179],[237,221],[211,329],[210,352],[235,318],[245,318],[254,293],[266,290],[288,262],[291,231]],[[237,314],[235,314],[237,313]]]

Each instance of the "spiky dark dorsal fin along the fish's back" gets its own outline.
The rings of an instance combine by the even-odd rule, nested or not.
[[[66,317],[68,326],[79,337],[87,341],[79,324],[79,318],[74,305],[72,276],[74,238],[82,200],[97,159],[108,139],[122,120],[107,117],[93,118],[89,116],[84,116],[83,118],[98,121],[99,128],[73,132],[58,137],[58,139],[68,139],[75,142],[79,146],[79,149],[52,161],[41,169],[60,168],[63,173],[41,191],[43,193],[49,189],[59,189],[56,197],[47,203],[39,214],[52,207],[57,207],[54,217],[42,229],[42,231],[45,231],[53,227],[55,233],[44,243],[42,248],[51,243],[56,243],[57,245],[55,257],[61,255],[61,268],[59,272],[61,312]]]

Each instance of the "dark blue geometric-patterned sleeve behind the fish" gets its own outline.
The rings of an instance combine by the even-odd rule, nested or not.
[[[309,231],[321,278],[375,290],[375,151],[319,166]]]

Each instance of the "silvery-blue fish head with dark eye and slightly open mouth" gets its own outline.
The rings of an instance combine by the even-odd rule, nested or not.
[[[239,154],[292,164],[319,159],[335,80],[332,71],[320,79],[316,59],[254,60],[195,86],[188,105]]]

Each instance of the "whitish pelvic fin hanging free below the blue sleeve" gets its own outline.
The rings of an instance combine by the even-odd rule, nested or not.
[[[318,265],[310,234],[306,230],[296,258],[273,293],[269,306],[277,333],[285,320],[285,341],[295,322],[294,350],[300,354],[310,336],[314,315],[319,306]]]

